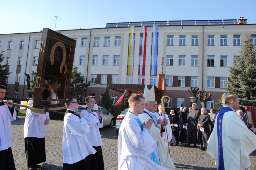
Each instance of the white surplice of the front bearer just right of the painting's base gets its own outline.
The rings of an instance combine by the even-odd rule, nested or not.
[[[86,156],[96,153],[86,136],[90,129],[85,118],[80,119],[72,113],[67,113],[63,123],[63,163],[74,164]]]

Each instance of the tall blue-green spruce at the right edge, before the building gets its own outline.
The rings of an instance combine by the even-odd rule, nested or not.
[[[236,95],[240,105],[253,106],[256,104],[256,50],[250,35],[245,35],[240,55],[234,55],[233,67],[229,67],[229,81],[227,81],[228,95]]]

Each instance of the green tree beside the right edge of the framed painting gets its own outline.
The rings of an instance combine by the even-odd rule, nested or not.
[[[75,96],[77,101],[81,101],[79,96],[84,95],[91,81],[84,83],[84,76],[81,76],[81,72],[77,72],[77,69],[77,67],[74,67],[72,71],[69,95]]]

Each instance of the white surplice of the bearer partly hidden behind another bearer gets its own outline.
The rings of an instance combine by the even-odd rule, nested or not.
[[[100,136],[100,130],[99,128],[103,128],[103,120],[101,120],[96,112],[89,113],[86,110],[82,110],[81,114],[85,115],[85,119],[88,123],[88,126],[90,128],[90,132],[86,135],[90,145],[94,147],[102,146],[102,139]]]

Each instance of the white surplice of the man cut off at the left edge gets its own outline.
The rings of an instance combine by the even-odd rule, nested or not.
[[[12,147],[12,120],[16,120],[16,111],[12,116],[7,105],[0,106],[0,151]]]

